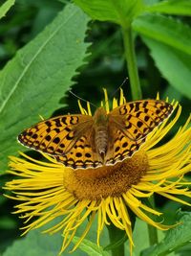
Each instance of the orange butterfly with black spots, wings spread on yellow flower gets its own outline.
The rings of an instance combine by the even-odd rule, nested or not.
[[[18,141],[73,169],[115,165],[132,157],[172,111],[172,105],[159,100],[126,103],[109,113],[98,107],[94,116],[62,115],[41,121],[19,134]]]

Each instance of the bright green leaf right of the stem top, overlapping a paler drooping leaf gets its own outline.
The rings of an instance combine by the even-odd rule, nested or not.
[[[191,55],[191,29],[173,18],[147,13],[134,20],[133,28],[140,35],[146,35]]]

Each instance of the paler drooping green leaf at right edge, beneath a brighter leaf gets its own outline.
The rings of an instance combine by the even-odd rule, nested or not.
[[[145,36],[142,38],[162,76],[181,94],[191,99],[191,56]]]

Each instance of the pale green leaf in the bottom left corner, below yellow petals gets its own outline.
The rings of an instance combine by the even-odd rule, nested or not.
[[[15,256],[15,255],[56,256],[56,255],[59,255],[59,252],[63,243],[62,231],[56,232],[53,235],[44,234],[42,232],[53,227],[60,221],[63,221],[63,216],[60,216],[54,219],[53,221],[46,223],[40,228],[31,230],[25,237],[22,237],[16,240],[9,248],[7,248],[7,250],[3,253],[2,256]],[[79,231],[79,229],[81,229],[81,231],[83,230],[83,227],[84,227],[83,224],[84,223],[82,223],[77,228],[76,233]],[[74,250],[74,252],[71,254],[70,252],[73,248],[74,248],[74,244],[73,243],[69,244],[69,247],[67,247],[66,250],[60,255],[84,256],[84,252],[81,251],[79,248]],[[100,251],[102,251],[102,249],[100,249]],[[97,254],[94,254],[94,255],[97,255]],[[109,256],[109,255],[105,253],[103,254],[103,256]]]

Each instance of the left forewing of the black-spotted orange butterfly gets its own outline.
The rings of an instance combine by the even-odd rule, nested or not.
[[[25,129],[18,136],[18,140],[36,151],[62,155],[74,148],[84,130],[92,124],[93,118],[88,115],[54,117]]]

